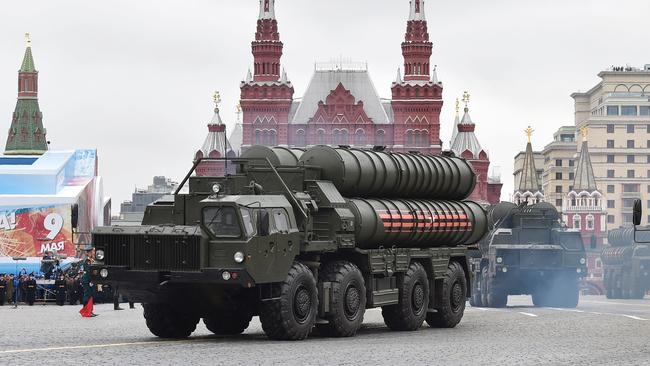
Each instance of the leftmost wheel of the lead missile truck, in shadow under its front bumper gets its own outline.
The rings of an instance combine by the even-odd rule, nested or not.
[[[196,329],[199,318],[181,312],[169,304],[143,304],[147,328],[160,338],[187,338]]]

